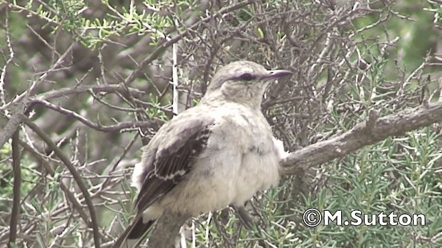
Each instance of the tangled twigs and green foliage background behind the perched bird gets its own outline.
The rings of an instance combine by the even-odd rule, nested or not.
[[[20,127],[19,174],[14,144],[0,149],[0,245],[93,247],[93,224],[102,247],[112,244],[133,214],[128,181],[140,147],[173,116],[174,55],[180,111],[229,61],[294,71],[262,105],[289,151],[349,130],[370,110],[385,116],[439,101],[441,4],[2,0],[0,127],[27,97],[35,127]],[[244,229],[224,209],[189,220],[181,246],[441,247],[440,132],[436,123],[287,176],[247,204],[259,228]],[[96,223],[68,164],[88,189]],[[427,223],[309,228],[301,221],[309,207],[423,213]]]

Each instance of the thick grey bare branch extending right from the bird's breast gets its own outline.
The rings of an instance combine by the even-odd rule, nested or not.
[[[382,118],[377,118],[376,112],[371,112],[365,123],[359,123],[352,130],[291,152],[280,161],[280,173],[297,174],[303,169],[342,158],[390,136],[400,136],[439,121],[442,121],[442,102],[414,107]]]

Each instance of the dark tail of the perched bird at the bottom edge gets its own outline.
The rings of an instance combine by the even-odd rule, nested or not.
[[[119,236],[111,248],[133,248],[140,246],[153,223],[155,223],[155,220],[143,223],[142,216],[136,216],[131,225],[126,227],[126,230],[124,230],[123,234]]]

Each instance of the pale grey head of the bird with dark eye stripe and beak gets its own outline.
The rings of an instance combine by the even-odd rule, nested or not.
[[[267,70],[252,61],[234,61],[215,73],[203,100],[223,98],[260,107],[269,83],[291,74],[293,73],[288,70]]]

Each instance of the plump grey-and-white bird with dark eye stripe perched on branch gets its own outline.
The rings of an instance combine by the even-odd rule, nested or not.
[[[198,105],[177,114],[142,147],[131,186],[135,217],[114,248],[137,247],[165,209],[199,216],[238,206],[278,185],[287,156],[261,110],[267,87],[289,70],[233,61],[215,72]]]

